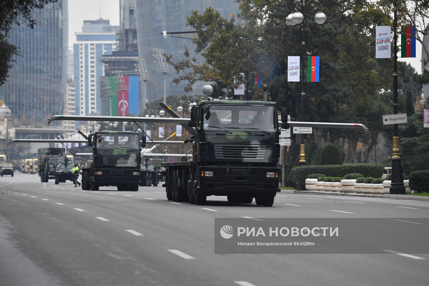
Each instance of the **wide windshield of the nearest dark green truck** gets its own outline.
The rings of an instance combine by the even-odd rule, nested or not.
[[[274,106],[211,105],[210,115],[203,116],[205,130],[222,128],[275,131]],[[208,119],[206,119],[208,117]]]

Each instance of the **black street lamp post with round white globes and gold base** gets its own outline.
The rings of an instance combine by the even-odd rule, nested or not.
[[[304,120],[304,61],[305,61],[305,33],[307,32],[307,9],[310,9],[309,12],[317,10],[316,15],[314,15],[314,21],[317,24],[323,24],[326,21],[326,15],[322,12],[322,5],[317,0],[296,0],[293,2],[294,13],[290,13],[287,16],[287,23],[291,26],[296,24],[301,24],[301,34],[302,34],[302,45],[301,45],[301,121]],[[305,145],[304,145],[304,134],[301,134],[301,146],[299,152],[299,166],[305,165]]]

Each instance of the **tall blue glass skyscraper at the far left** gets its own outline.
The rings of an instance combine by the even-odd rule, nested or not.
[[[13,26],[9,43],[19,47],[8,82],[0,94],[21,124],[46,124],[49,116],[63,113],[67,83],[67,0],[32,12],[34,28]],[[58,123],[57,123],[58,124]]]

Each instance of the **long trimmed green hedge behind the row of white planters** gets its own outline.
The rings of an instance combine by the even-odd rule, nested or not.
[[[326,176],[342,177],[349,173],[360,173],[367,177],[381,178],[384,171],[382,164],[342,164],[299,166],[293,168],[293,183],[297,190],[305,190],[305,179],[309,174],[325,174]],[[318,180],[318,179],[317,179]]]

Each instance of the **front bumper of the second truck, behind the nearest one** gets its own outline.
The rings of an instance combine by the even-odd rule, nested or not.
[[[94,176],[95,182],[99,186],[120,186],[140,183],[139,169],[94,169]]]

